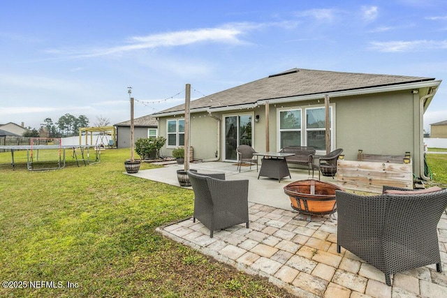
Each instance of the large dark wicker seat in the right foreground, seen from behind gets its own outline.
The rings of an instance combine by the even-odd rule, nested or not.
[[[417,267],[436,264],[441,272],[437,224],[447,189],[440,189],[372,196],[336,191],[337,253],[344,247],[373,265],[387,285],[390,274]]]

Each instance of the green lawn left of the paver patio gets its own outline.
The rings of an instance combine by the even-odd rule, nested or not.
[[[0,153],[0,281],[22,286],[0,297],[291,296],[156,232],[192,215],[193,192],[123,174],[126,158],[29,172],[23,151],[15,170]]]

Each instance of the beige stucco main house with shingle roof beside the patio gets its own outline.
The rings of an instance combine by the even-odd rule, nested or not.
[[[293,68],[191,101],[194,158],[236,161],[236,147],[279,151],[312,146],[325,154],[325,97],[330,150],[346,160],[411,152],[413,173],[424,177],[423,114],[441,80],[432,77],[341,73]],[[166,154],[184,144],[184,105],[163,110],[159,133]]]

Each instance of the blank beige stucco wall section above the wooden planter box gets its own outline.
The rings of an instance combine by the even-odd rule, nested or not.
[[[346,159],[413,151],[413,97],[409,92],[337,100],[337,147]]]

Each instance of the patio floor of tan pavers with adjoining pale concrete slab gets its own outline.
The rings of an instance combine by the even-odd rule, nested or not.
[[[178,185],[178,165],[140,171],[135,176]],[[438,225],[444,272],[435,265],[395,274],[388,287],[381,271],[342,248],[337,253],[337,221],[312,217],[301,221],[289,207],[282,188],[308,179],[307,171],[291,171],[292,179],[256,179],[256,167],[240,174],[230,163],[191,164],[199,172],[226,172],[226,179],[249,179],[250,228],[235,225],[210,232],[191,218],[159,228],[166,237],[249,274],[265,276],[297,297],[447,297],[447,214]],[[212,169],[212,170],[211,170]],[[335,181],[326,179],[325,181]]]

